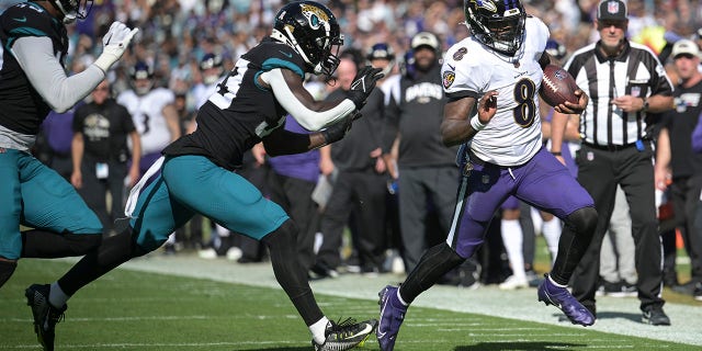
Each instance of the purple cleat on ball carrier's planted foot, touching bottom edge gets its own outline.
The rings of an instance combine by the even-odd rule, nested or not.
[[[397,290],[398,287],[387,285],[377,293],[378,305],[381,305],[381,324],[375,336],[383,351],[392,351],[395,348],[399,327],[405,320],[405,313],[407,313],[407,306],[404,306],[397,298]]]

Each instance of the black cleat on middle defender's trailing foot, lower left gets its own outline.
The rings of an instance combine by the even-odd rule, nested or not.
[[[34,332],[44,351],[54,351],[54,329],[56,324],[64,319],[64,313],[68,306],[56,308],[48,303],[49,285],[33,284],[24,291],[26,304],[32,308],[34,316]]]

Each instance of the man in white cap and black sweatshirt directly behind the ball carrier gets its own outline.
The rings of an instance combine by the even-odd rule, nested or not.
[[[399,223],[405,269],[411,271],[423,251],[449,233],[455,183],[457,147],[444,147],[440,125],[446,103],[441,84],[441,43],[430,32],[417,33],[410,43],[414,73],[399,80],[399,97],[390,99],[386,110],[383,152],[388,170],[398,180]],[[390,149],[399,138],[397,169]],[[427,237],[428,214],[435,213],[443,234]]]

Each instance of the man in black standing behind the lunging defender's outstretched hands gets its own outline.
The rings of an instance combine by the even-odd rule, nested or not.
[[[339,88],[329,93],[327,100],[348,94],[356,73],[353,58],[342,55],[337,70]],[[336,271],[341,263],[341,236],[351,217],[354,222],[352,241],[361,272],[373,274],[382,268],[386,192],[385,163],[381,159],[383,111],[383,92],[375,89],[361,110],[363,118],[354,123],[347,137],[329,146],[336,176],[321,217],[324,241],[313,267],[313,271],[322,276],[333,275],[330,270]]]

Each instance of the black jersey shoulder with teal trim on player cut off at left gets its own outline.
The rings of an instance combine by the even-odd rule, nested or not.
[[[25,36],[60,37],[63,25],[46,10],[34,2],[18,3],[2,13],[2,31],[9,38]]]

